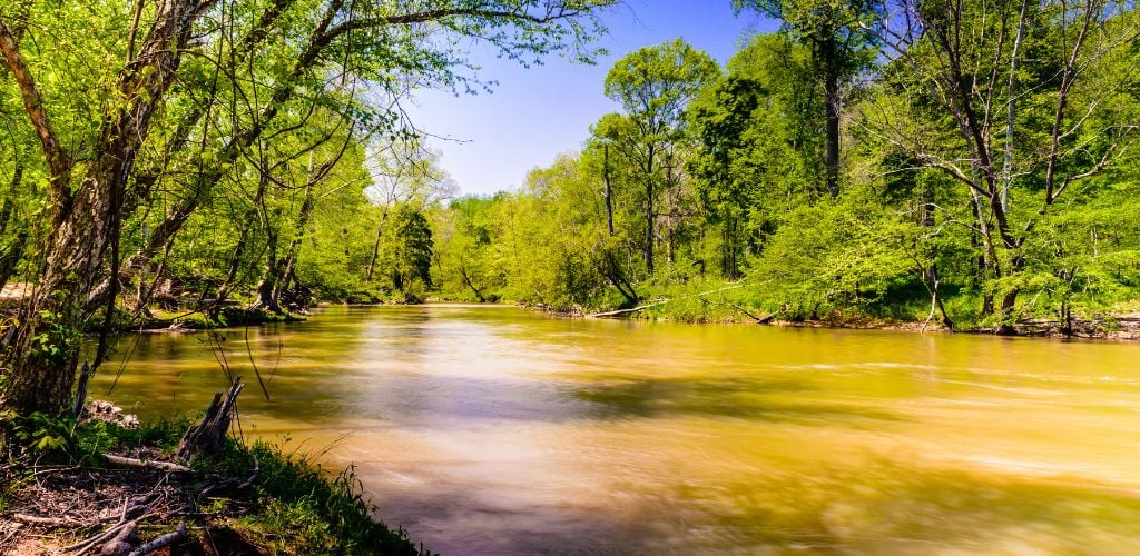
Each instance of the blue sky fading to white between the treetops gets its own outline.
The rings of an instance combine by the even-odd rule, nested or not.
[[[432,137],[440,165],[463,195],[489,195],[520,188],[527,173],[547,166],[561,153],[580,149],[589,125],[619,106],[602,92],[605,74],[627,52],[683,38],[722,65],[740,41],[776,23],[755,14],[735,17],[730,0],[625,0],[602,16],[609,50],[596,65],[548,57],[529,68],[473,51],[482,81],[494,92],[454,95],[422,90],[405,106],[415,126]]]

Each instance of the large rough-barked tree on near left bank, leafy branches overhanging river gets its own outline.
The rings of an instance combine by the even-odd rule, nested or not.
[[[42,272],[5,353],[9,371],[2,407],[17,412],[55,414],[68,406],[80,353],[79,330],[91,319],[83,305],[104,277],[119,276],[122,223],[138,199],[154,188],[141,179],[136,162],[153,145],[156,128],[170,131],[171,148],[195,138],[209,146],[192,179],[195,194],[150,235],[162,245],[193,214],[203,194],[234,171],[242,153],[274,131],[283,108],[323,90],[328,75],[358,76],[391,90],[405,87],[409,76],[418,82],[459,83],[464,76],[455,68],[463,67],[464,59],[455,41],[433,36],[439,30],[453,36],[481,38],[512,58],[565,50],[588,57],[588,50],[573,49],[596,35],[595,13],[610,2],[249,0],[222,6],[213,0],[168,0],[139,2],[139,17],[111,3],[98,5],[101,11],[83,11],[84,17],[105,18],[98,22],[104,26],[68,19],[66,14],[73,10],[59,9],[57,3],[33,5],[27,18],[35,24],[26,25],[24,36],[13,28],[17,23],[13,8],[0,9],[0,54],[39,139],[51,206]],[[87,2],[76,7],[82,9]],[[235,13],[243,17],[230,17]],[[59,28],[64,24],[68,27]],[[23,22],[18,25],[24,27]],[[59,41],[55,35],[28,39],[33,31],[51,27],[68,38],[98,30],[108,40],[95,44],[112,46],[108,56],[87,60],[95,68],[93,79],[79,84],[90,91],[80,98],[97,100],[89,106],[96,108],[95,118],[58,117],[70,99],[56,98],[41,87],[44,80],[58,79],[52,73],[56,68],[43,71],[40,64],[51,63],[51,44]],[[285,30],[291,39],[269,40]],[[219,125],[212,116],[228,108],[214,105],[209,99],[215,96],[195,89],[195,83],[211,79],[210,73],[215,81],[236,76],[254,55],[266,51],[277,55],[269,68],[277,79],[264,95],[243,99],[239,106],[250,109],[222,118]],[[203,59],[213,71],[192,74],[195,65],[184,64],[192,52],[206,54]],[[207,100],[195,98],[204,92]],[[71,121],[79,122],[78,128],[60,125]],[[194,131],[199,123],[207,128]],[[179,140],[179,130],[187,130],[186,141]],[[82,153],[75,150],[76,145]],[[117,280],[112,279],[104,304],[108,322],[116,294]],[[96,365],[105,354],[104,343]]]

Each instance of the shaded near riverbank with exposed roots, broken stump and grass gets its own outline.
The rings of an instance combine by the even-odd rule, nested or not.
[[[142,554],[164,535],[174,554],[424,554],[372,518],[351,468],[329,477],[303,455],[227,438],[218,458],[162,469],[188,422],[93,420],[68,434],[66,423],[32,420],[16,426],[33,452],[0,471],[2,554]]]

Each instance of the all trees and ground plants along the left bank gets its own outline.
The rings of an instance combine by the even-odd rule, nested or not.
[[[351,475],[326,484],[304,461],[266,448],[219,439],[217,469],[186,471],[189,456],[179,453],[184,461],[162,465],[158,477],[146,452],[119,484],[122,474],[103,467],[122,438],[78,424],[88,381],[117,328],[155,318],[235,324],[300,308],[311,292],[366,289],[352,280],[396,289],[427,281],[416,267],[429,245],[425,218],[373,186],[392,180],[402,195],[408,180],[435,183],[400,103],[422,87],[482,87],[466,58],[471,41],[523,64],[547,55],[589,60],[598,11],[611,3],[5,2],[0,287],[14,283],[21,293],[0,317],[0,540],[18,541],[32,529],[18,525],[35,524],[65,541],[95,534],[74,539],[74,550],[127,554],[154,548],[136,546],[137,535],[185,520],[190,534],[155,540],[205,539],[217,551],[214,516],[262,550],[414,553],[369,520]],[[388,223],[398,236],[384,234]],[[356,252],[351,238],[365,230],[374,246]],[[234,300],[258,313],[235,311]],[[84,333],[98,335],[85,354]],[[164,445],[146,441],[157,442],[149,450]],[[51,457],[65,471],[44,468]],[[206,497],[234,473],[252,477],[236,483],[241,496]],[[170,494],[163,504],[132,498],[147,482],[176,492],[158,489]],[[38,504],[41,491],[76,484],[90,497]],[[23,521],[11,514],[26,508],[35,513]]]

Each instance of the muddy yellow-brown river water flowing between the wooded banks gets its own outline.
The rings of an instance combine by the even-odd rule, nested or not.
[[[119,342],[109,395],[358,465],[443,554],[1140,550],[1140,346],[328,309]],[[113,366],[98,377],[105,395]]]

